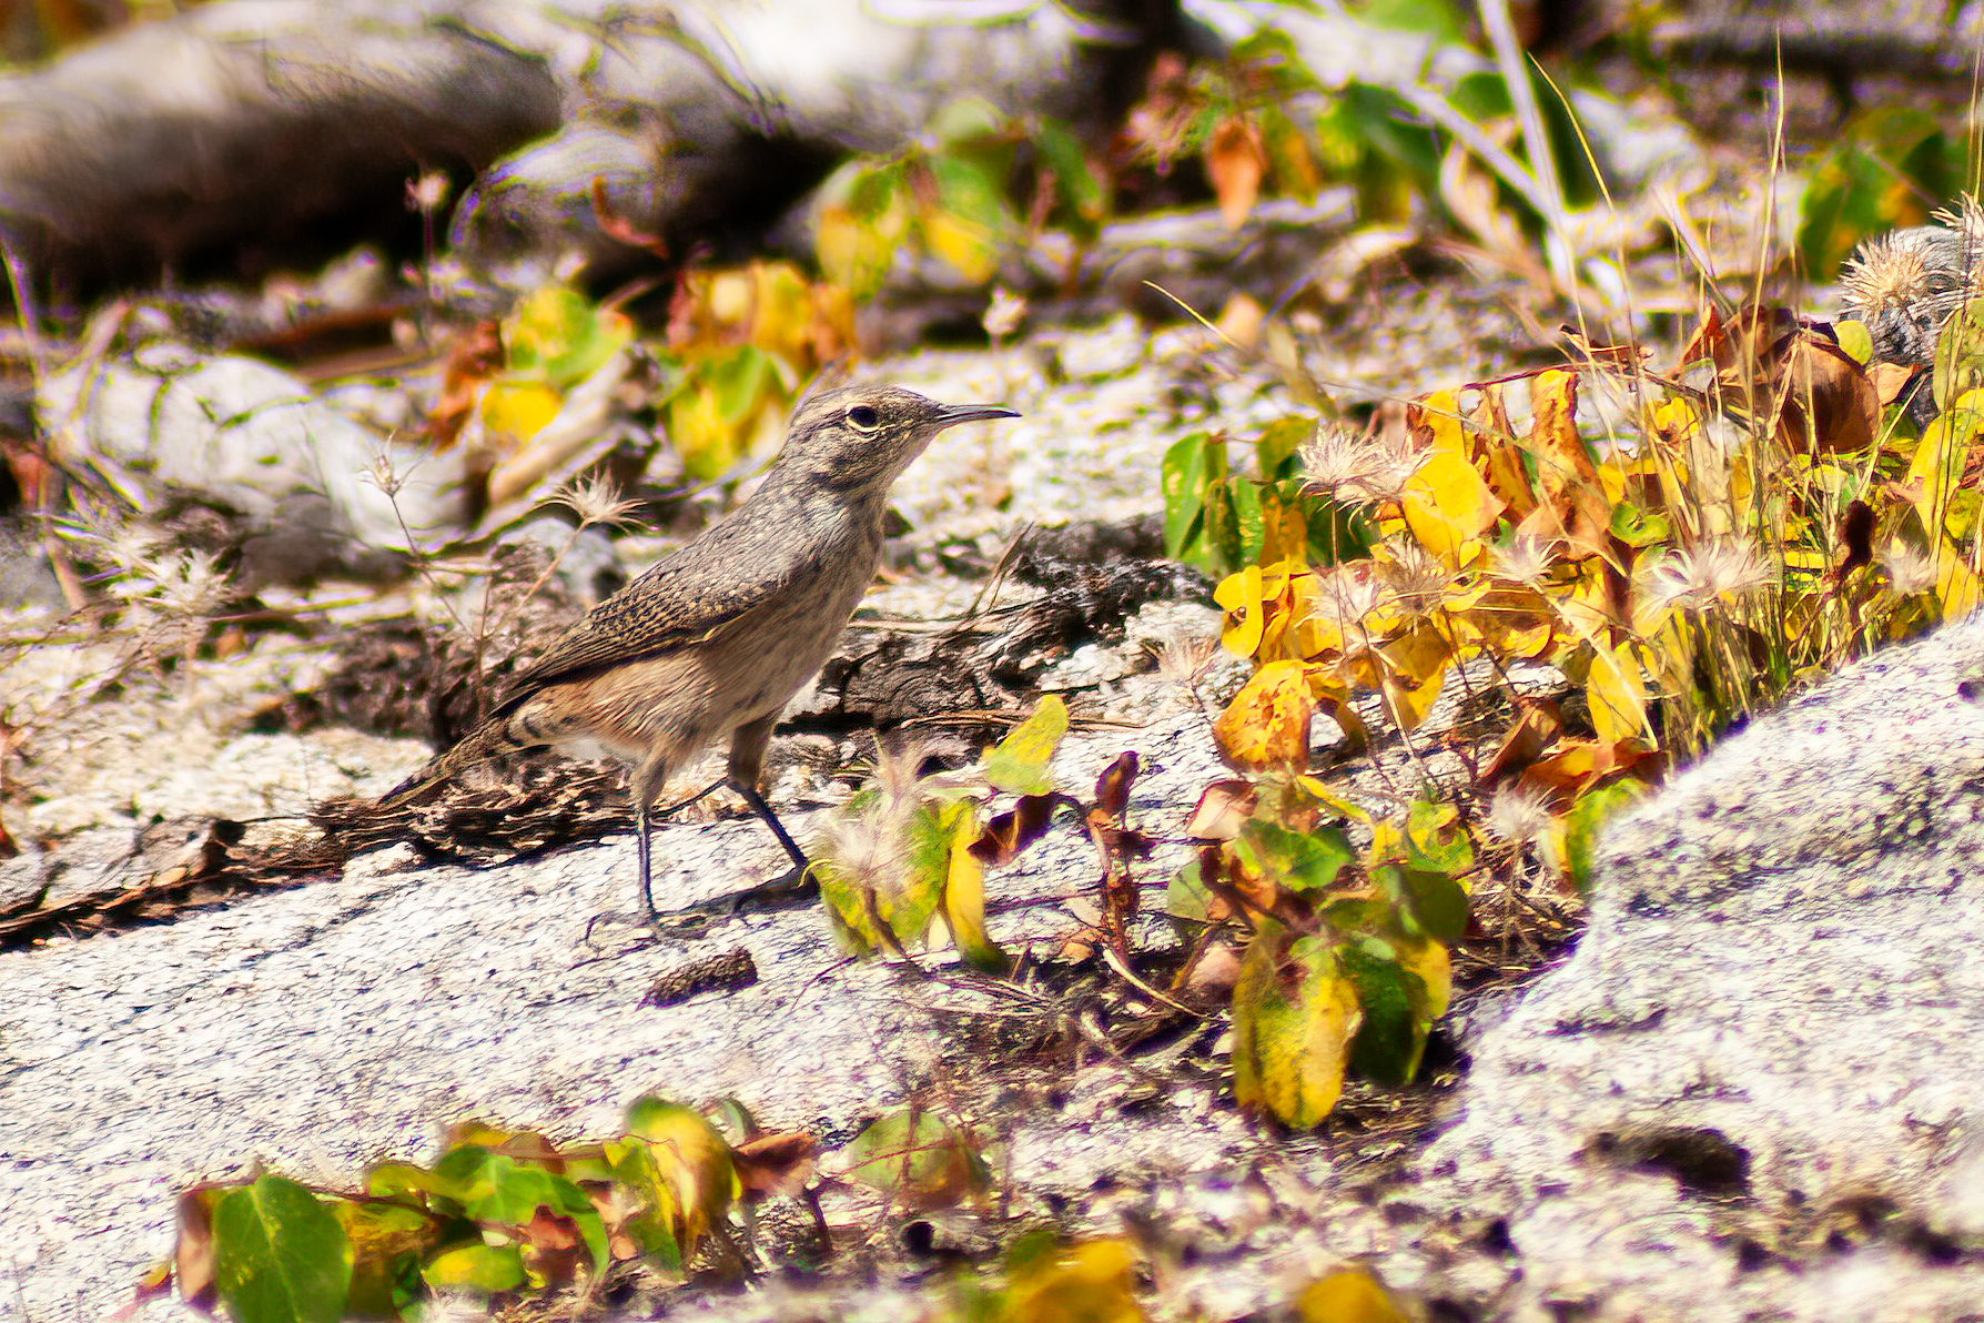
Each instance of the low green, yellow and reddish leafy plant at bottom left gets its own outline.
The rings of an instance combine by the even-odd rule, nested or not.
[[[177,1285],[236,1323],[333,1323],[417,1319],[436,1289],[546,1297],[623,1262],[679,1277],[732,1206],[804,1180],[811,1154],[800,1133],[732,1146],[657,1097],[597,1144],[466,1123],[433,1166],[381,1162],[355,1192],[276,1174],[188,1190],[173,1263],[141,1295]]]

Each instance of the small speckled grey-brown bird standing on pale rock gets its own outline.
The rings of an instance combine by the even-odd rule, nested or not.
[[[550,746],[633,766],[641,901],[655,910],[649,825],[671,768],[730,736],[726,782],[798,869],[806,853],[758,791],[780,710],[839,641],[881,563],[889,486],[946,426],[1016,419],[899,387],[804,399],[786,448],[726,520],[665,557],[526,666],[454,748],[381,803],[496,754]]]

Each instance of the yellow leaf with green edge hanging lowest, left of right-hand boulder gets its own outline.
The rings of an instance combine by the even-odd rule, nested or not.
[[[1321,1125],[1343,1091],[1351,1039],[1363,1023],[1357,988],[1319,936],[1264,918],[1234,984],[1234,1099],[1282,1125]]]

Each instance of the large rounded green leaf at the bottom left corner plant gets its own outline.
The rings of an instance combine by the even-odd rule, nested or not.
[[[315,1194],[262,1176],[214,1208],[214,1285],[236,1323],[333,1323],[351,1289],[351,1242]]]

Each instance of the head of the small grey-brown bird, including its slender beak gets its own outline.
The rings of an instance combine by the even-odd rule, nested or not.
[[[946,426],[1018,417],[998,405],[938,405],[903,387],[817,391],[794,411],[778,468],[839,492],[885,492]]]

